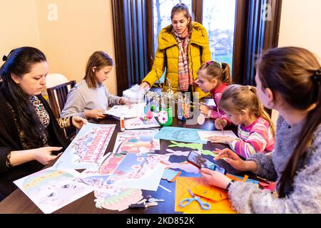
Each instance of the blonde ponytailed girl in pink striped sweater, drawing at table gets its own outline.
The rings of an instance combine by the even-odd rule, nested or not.
[[[229,86],[220,99],[220,107],[235,125],[238,139],[211,137],[211,142],[230,145],[238,155],[248,158],[257,152],[271,152],[275,145],[275,128],[252,86]],[[215,128],[222,129],[228,122],[215,120]]]

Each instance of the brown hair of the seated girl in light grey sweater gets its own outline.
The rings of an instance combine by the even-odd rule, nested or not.
[[[86,80],[88,88],[97,88],[98,86],[98,80],[93,72],[93,68],[96,67],[96,71],[99,71],[105,66],[113,66],[113,58],[108,56],[107,53],[103,51],[95,51],[91,57],[89,57],[86,66],[86,76],[83,78]]]

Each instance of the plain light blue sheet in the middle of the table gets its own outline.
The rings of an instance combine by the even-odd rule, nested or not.
[[[200,139],[198,131],[200,131],[200,129],[163,127],[157,133],[155,138],[159,138],[161,140],[173,140],[178,142],[193,142],[206,144],[207,141]]]

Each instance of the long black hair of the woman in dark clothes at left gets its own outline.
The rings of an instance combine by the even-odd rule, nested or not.
[[[14,82],[11,75],[22,78],[26,73],[31,72],[35,63],[46,62],[46,56],[37,48],[21,47],[12,50],[4,60],[6,62],[0,68],[1,92],[14,109],[26,142],[35,148],[42,147],[40,135],[43,135],[44,130],[34,105],[29,101],[29,95]]]

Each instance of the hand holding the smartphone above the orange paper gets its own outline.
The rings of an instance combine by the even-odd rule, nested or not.
[[[200,169],[200,174],[203,176],[205,181],[208,182],[208,184],[223,189],[226,189],[226,187],[228,187],[228,183],[230,182],[230,178],[226,177],[218,171],[202,168]]]

